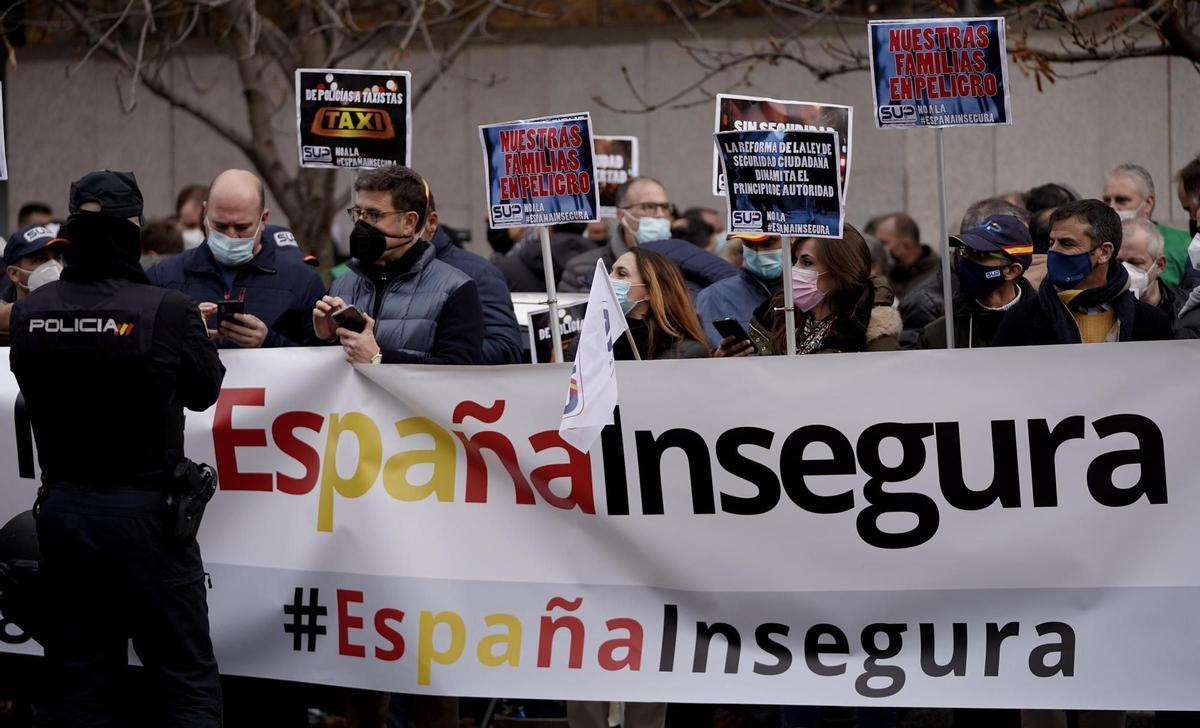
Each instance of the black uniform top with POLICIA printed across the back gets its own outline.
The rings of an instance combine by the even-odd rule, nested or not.
[[[161,477],[184,455],[184,408],[211,407],[224,378],[194,301],[113,278],[16,303],[10,366],[47,482]]]

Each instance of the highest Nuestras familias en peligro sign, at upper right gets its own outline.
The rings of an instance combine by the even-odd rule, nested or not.
[[[1012,124],[1004,18],[871,20],[875,125]]]

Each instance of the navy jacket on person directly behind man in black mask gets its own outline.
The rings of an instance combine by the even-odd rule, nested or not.
[[[479,289],[479,302],[484,309],[484,359],[480,363],[520,362],[523,354],[521,326],[512,311],[512,296],[504,284],[504,276],[482,257],[456,246],[442,228],[433,235],[432,245],[438,260],[467,273]]]

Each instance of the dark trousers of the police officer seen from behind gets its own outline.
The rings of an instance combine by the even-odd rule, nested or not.
[[[37,517],[49,616],[38,726],[221,726],[200,549],[169,542],[161,492],[52,486]],[[121,694],[127,644],[146,690]]]

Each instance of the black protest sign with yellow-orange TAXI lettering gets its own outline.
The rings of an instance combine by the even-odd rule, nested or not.
[[[296,68],[300,166],[408,166],[410,82],[408,71]]]

